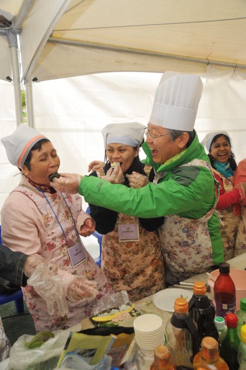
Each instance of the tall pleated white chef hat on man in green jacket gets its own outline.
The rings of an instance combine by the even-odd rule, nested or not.
[[[149,122],[174,130],[193,131],[202,90],[199,76],[163,73]]]

